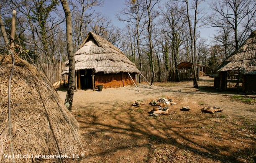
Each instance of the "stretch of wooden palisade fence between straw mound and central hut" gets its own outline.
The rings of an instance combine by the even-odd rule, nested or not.
[[[61,76],[61,72],[63,72],[65,68],[64,62],[56,62],[54,64],[36,64],[36,68],[45,73],[52,84],[63,80],[67,81],[68,79],[67,75]]]

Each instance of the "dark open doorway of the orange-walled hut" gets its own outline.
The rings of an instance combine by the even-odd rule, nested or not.
[[[92,89],[92,70],[80,70],[81,89]]]

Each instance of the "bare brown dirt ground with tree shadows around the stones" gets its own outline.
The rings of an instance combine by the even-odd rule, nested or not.
[[[72,113],[80,125],[88,162],[251,162],[256,159],[256,105],[233,101],[234,91],[219,92],[213,79],[74,92]],[[66,92],[58,91],[64,100]],[[151,100],[172,99],[168,115],[151,117]],[[255,96],[254,96],[255,97]],[[146,105],[134,107],[135,101]],[[183,106],[191,110],[183,112]],[[202,107],[224,110],[214,114]],[[253,161],[254,158],[254,161]]]

